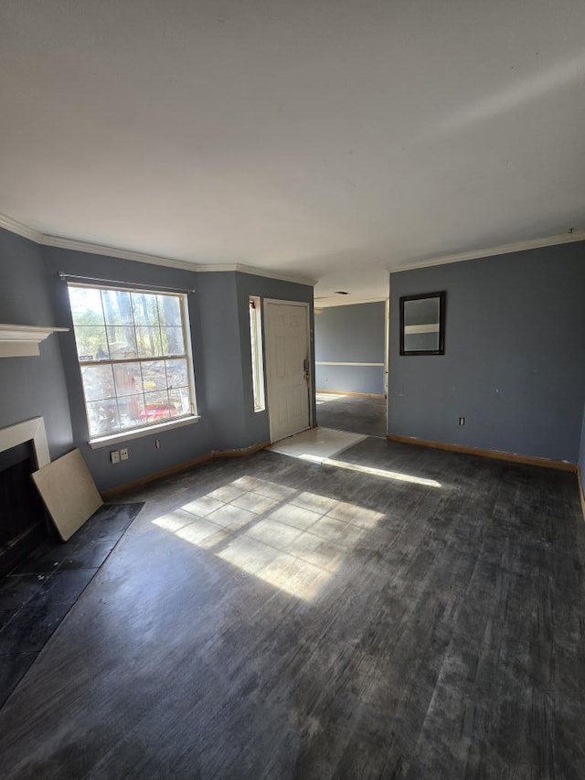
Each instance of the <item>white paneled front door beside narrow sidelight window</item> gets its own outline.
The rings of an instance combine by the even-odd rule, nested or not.
[[[271,442],[310,427],[308,323],[308,304],[264,301]]]

